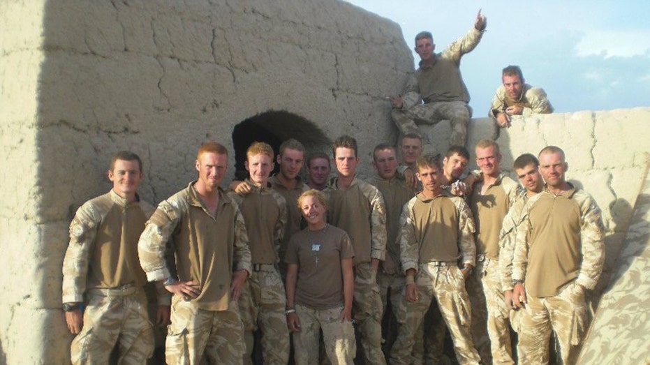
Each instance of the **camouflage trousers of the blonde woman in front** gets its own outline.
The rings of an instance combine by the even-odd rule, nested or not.
[[[296,365],[318,364],[320,329],[330,364],[354,364],[355,329],[352,322],[339,320],[343,306],[318,311],[296,304],[295,310],[300,319],[300,332],[293,334]]]

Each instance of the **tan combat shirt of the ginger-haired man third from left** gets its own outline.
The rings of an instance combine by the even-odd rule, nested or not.
[[[242,211],[253,264],[279,263],[280,242],[287,223],[287,204],[278,192],[268,187],[258,187],[246,179],[251,192],[239,196],[234,191],[228,196],[237,202]]]

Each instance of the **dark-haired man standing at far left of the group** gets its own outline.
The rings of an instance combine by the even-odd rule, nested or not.
[[[138,237],[154,211],[136,192],[143,177],[140,157],[118,152],[108,169],[112,189],[83,204],[70,224],[62,301],[68,329],[77,334],[73,364],[108,364],[116,343],[120,364],[146,364],[153,354],[147,277],[138,261]],[[156,321],[167,325],[170,296],[158,294]]]

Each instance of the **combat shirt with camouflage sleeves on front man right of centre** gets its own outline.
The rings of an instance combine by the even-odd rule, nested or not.
[[[474,265],[474,221],[465,200],[441,191],[435,198],[422,193],[404,205],[400,218],[401,266],[418,271],[432,261]]]

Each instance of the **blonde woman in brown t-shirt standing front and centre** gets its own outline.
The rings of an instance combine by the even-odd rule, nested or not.
[[[332,364],[354,364],[352,326],[354,251],[350,237],[325,223],[326,197],[317,190],[297,205],[307,227],[294,234],[286,255],[287,324],[294,332],[297,365],[318,364],[319,332]]]

